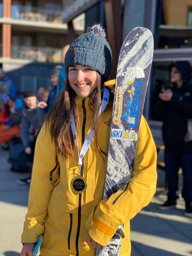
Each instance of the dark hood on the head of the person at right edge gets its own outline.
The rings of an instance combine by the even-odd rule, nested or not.
[[[170,71],[172,67],[175,67],[180,71],[183,83],[187,83],[191,79],[192,68],[188,61],[173,62],[170,65]]]

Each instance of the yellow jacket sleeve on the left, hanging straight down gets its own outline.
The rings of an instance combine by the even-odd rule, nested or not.
[[[55,145],[51,140],[49,127],[45,127],[44,124],[36,141],[28,212],[21,235],[21,243],[36,242],[39,235],[43,234],[47,205],[55,181],[59,178],[58,169]],[[52,174],[52,179],[50,179],[50,174]]]

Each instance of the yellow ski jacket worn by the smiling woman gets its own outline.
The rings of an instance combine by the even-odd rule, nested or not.
[[[89,98],[78,98],[79,151],[90,132],[92,115]],[[99,144],[107,153],[112,107],[104,111],[99,126]],[[105,156],[104,156],[105,157]],[[105,157],[107,162],[107,157]],[[63,159],[57,155],[49,129],[43,125],[36,142],[31,178],[28,213],[21,237],[22,243],[36,242],[43,234],[42,256],[94,255],[85,242],[89,232],[95,242],[106,246],[119,225],[124,223],[121,256],[131,254],[130,220],[149,204],[156,189],[156,148],[145,118],[141,118],[132,178],[106,201],[102,200],[106,163],[93,137],[84,157],[84,193],[74,194],[71,180],[78,175],[78,154]],[[124,191],[124,193],[122,193]],[[114,203],[115,202],[115,203]]]

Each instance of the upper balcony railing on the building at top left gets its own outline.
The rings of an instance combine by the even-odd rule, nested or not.
[[[12,19],[63,23],[62,11],[39,8],[29,5],[12,5],[11,17]]]

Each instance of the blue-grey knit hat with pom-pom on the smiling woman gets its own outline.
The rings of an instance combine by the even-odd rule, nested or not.
[[[65,55],[65,68],[83,65],[94,68],[107,81],[111,73],[111,49],[105,30],[100,25],[87,29],[69,47]]]

